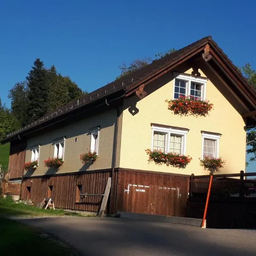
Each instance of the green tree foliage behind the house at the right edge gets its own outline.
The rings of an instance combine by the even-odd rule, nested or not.
[[[244,77],[247,78],[249,84],[251,84],[254,89],[256,89],[256,71],[252,69],[249,63],[245,64],[240,68]],[[250,157],[250,161],[256,160],[256,125],[251,125],[247,127],[247,145],[250,148],[247,149],[247,153],[253,153],[254,156]]]

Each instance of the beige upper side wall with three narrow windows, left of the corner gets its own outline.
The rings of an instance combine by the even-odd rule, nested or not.
[[[122,119],[120,119],[122,120]],[[86,170],[109,169],[112,164],[113,135],[116,122],[116,110],[112,109],[99,113],[88,118],[61,126],[52,131],[42,131],[40,135],[31,137],[27,140],[26,162],[31,160],[31,147],[41,144],[39,154],[39,165],[34,172],[24,172],[25,176],[38,176],[53,173],[79,172]],[[90,150],[90,131],[89,129],[100,125],[99,130],[99,155],[91,165],[83,165],[80,154]],[[64,164],[58,171],[47,169],[43,161],[53,157],[53,140],[59,137],[66,137],[64,146]],[[75,141],[77,138],[77,142]]]

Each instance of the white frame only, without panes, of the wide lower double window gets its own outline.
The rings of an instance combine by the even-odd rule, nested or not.
[[[171,134],[180,135],[181,138],[181,154],[186,154],[186,136],[188,130],[179,130],[174,128],[165,128],[152,125],[152,138],[151,138],[151,150],[153,150],[154,132],[162,132],[166,134],[165,153],[169,153],[170,150],[170,136]]]

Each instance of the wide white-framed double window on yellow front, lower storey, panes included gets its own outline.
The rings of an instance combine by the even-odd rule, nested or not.
[[[152,145],[154,150],[185,154],[188,130],[152,126]]]

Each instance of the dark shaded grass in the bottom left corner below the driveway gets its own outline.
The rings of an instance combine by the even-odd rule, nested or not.
[[[0,254],[75,256],[76,250],[17,221],[0,217]]]

